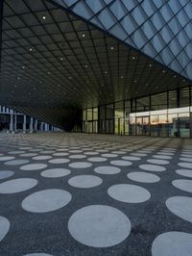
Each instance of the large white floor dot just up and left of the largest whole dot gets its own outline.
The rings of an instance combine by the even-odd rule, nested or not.
[[[71,201],[70,192],[50,189],[34,192],[22,201],[22,208],[30,213],[47,213],[58,210]]]

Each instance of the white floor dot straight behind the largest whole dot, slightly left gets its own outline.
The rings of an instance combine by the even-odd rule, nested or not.
[[[78,175],[68,180],[75,188],[88,189],[101,185],[103,180],[95,175]]]

